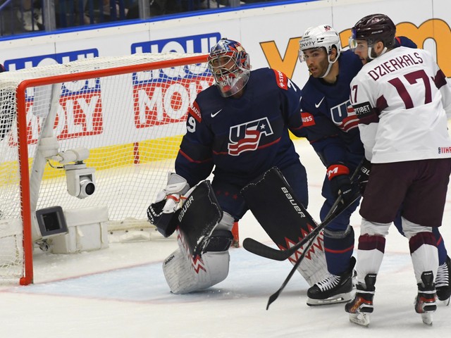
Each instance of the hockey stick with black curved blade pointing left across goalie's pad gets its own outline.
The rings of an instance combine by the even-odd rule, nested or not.
[[[363,161],[357,165],[357,168],[352,173],[351,182],[354,182],[355,177],[359,174],[360,168],[362,168]],[[285,261],[285,259],[290,258],[298,249],[300,249],[304,244],[309,242],[310,239],[316,237],[321,230],[324,229],[330,222],[332,222],[335,218],[337,218],[343,211],[345,211],[349,206],[351,206],[357,199],[359,199],[360,193],[355,194],[354,198],[347,205],[341,205],[340,196],[335,200],[333,206],[330,208],[328,215],[324,218],[323,222],[315,227],[314,230],[309,232],[303,239],[297,242],[294,246],[291,246],[285,250],[274,249],[271,246],[267,246],[261,242],[258,242],[252,238],[245,238],[242,242],[242,246],[249,252],[252,252],[258,256],[273,259],[274,261]],[[304,213],[308,213],[307,210],[303,211]]]

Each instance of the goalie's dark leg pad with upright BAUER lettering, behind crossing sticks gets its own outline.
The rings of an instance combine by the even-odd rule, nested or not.
[[[281,250],[296,244],[317,226],[304,206],[297,201],[278,168],[271,168],[259,180],[248,184],[241,194],[261,227]],[[271,200],[268,196],[271,196]],[[289,258],[290,262],[295,264],[301,254],[302,248]],[[326,277],[328,271],[322,232],[297,270],[310,286]]]

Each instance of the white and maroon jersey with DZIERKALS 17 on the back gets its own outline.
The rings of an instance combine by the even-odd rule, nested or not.
[[[428,51],[399,47],[366,63],[350,99],[372,163],[451,157],[451,88]]]

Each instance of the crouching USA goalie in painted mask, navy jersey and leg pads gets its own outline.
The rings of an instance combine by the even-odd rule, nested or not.
[[[298,211],[308,204],[307,173],[288,132],[302,136],[299,87],[277,70],[251,71],[249,55],[230,39],[211,49],[208,65],[215,83],[189,108],[175,173],[147,210],[164,236],[178,236],[178,249],[163,262],[175,294],[227,277],[231,230],[249,209],[280,248],[315,227]],[[271,168],[278,174],[261,180]],[[321,243],[299,268],[310,285],[327,273]]]

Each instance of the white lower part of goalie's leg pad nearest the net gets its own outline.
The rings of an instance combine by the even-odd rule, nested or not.
[[[173,294],[187,294],[212,287],[226,279],[230,256],[228,251],[206,252],[192,260],[177,249],[163,263],[163,273]]]

